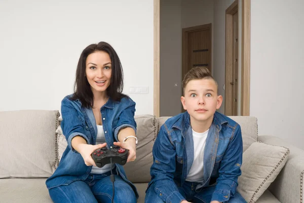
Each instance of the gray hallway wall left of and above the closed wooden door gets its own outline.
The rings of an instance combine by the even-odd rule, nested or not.
[[[160,1],[160,116],[181,113],[181,29],[208,23],[213,0]]]

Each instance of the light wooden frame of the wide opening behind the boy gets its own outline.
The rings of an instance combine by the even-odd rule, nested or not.
[[[238,1],[238,0],[237,0]],[[250,101],[250,2],[242,1],[241,116],[249,116]],[[160,116],[160,0],[154,0],[154,99],[153,112]]]

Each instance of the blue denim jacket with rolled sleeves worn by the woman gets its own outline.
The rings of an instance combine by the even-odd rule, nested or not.
[[[68,147],[62,155],[56,171],[46,181],[48,189],[60,185],[68,185],[78,180],[84,181],[92,169],[92,166],[85,164],[81,154],[72,148],[71,140],[75,136],[82,136],[88,144],[96,144],[97,126],[93,110],[83,107],[79,99],[70,100],[70,96],[64,97],[61,101],[61,128]],[[113,142],[118,141],[120,129],[131,127],[136,132],[136,122],[134,120],[135,102],[131,98],[124,97],[121,101],[108,99],[100,111],[108,148],[113,146]],[[117,173],[133,188],[136,197],[138,197],[135,186],[127,180],[123,166],[120,164],[115,165]]]

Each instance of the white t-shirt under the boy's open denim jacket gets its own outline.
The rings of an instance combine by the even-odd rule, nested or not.
[[[186,181],[202,183],[204,181],[204,150],[209,129],[205,132],[196,132],[192,129],[194,157]]]

